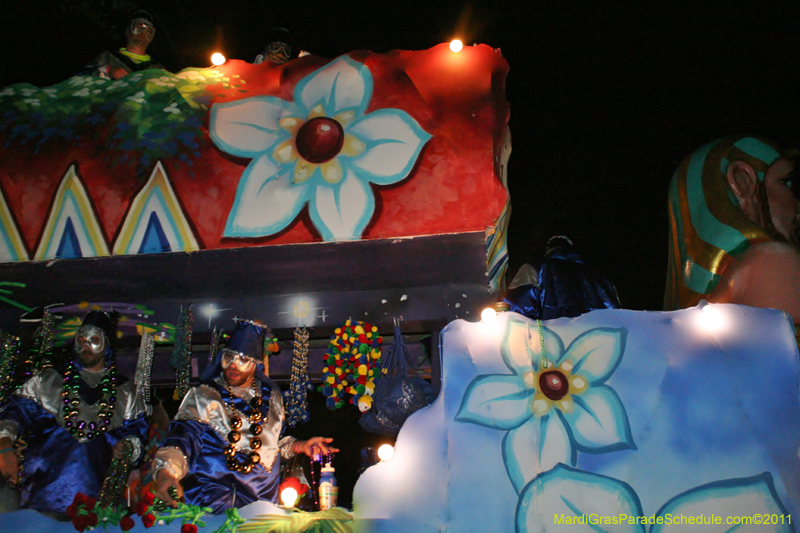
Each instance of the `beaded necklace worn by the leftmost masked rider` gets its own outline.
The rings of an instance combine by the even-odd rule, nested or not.
[[[64,427],[76,439],[92,440],[98,435],[108,430],[111,423],[111,416],[114,414],[114,404],[117,402],[117,366],[112,361],[111,366],[106,370],[103,379],[100,380],[98,387],[101,390],[100,411],[97,413],[97,420],[79,419],[80,415],[80,389],[86,383],[80,373],[76,371],[75,362],[70,361],[67,371],[64,373],[64,382],[61,392],[64,406]],[[88,386],[88,385],[87,385]]]

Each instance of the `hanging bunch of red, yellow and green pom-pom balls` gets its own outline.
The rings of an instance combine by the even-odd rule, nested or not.
[[[327,396],[328,409],[339,409],[346,402],[362,409],[371,406],[371,398],[364,397],[375,390],[382,344],[378,328],[366,322],[348,320],[336,328],[324,356],[319,387]]]

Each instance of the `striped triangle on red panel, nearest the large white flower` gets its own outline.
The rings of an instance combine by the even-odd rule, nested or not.
[[[193,252],[200,247],[159,161],[122,223],[115,255]]]

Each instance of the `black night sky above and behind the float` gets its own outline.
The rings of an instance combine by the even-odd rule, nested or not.
[[[800,6],[734,3],[689,10],[588,1],[138,5],[156,18],[151,54],[173,71],[208,66],[218,50],[251,61],[275,26],[290,30],[295,51],[329,58],[426,49],[454,36],[500,48],[510,66],[512,270],[541,255],[551,235],[565,234],[614,282],[623,307],[658,310],[667,187],[680,161],[730,134],[800,146]],[[120,46],[112,24],[118,13],[120,27],[127,21],[125,4],[3,1],[0,86],[50,85]]]

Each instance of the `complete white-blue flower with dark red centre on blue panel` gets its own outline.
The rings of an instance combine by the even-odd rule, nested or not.
[[[518,492],[558,463],[574,466],[578,451],[636,448],[625,406],[605,384],[622,360],[626,336],[624,328],[594,328],[564,349],[550,329],[508,319],[501,354],[513,373],[476,377],[456,420],[508,432],[503,460]]]

